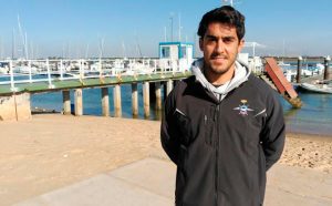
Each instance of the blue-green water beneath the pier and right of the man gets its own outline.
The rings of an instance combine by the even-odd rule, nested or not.
[[[122,114],[123,117],[132,119],[132,89],[131,85],[122,85]],[[114,114],[113,90],[110,87],[111,115]],[[164,92],[162,92],[164,93]],[[284,119],[288,132],[332,135],[332,95],[301,93],[299,96],[303,102],[300,110],[294,110],[282,97]],[[62,111],[62,93],[43,93],[31,96],[32,107]],[[73,91],[71,91],[71,102],[74,102]],[[142,84],[138,84],[138,119],[144,119]],[[73,110],[72,110],[73,111]],[[83,90],[83,114],[102,115],[101,89]],[[160,112],[155,110],[155,104],[151,103],[151,116],[148,120],[160,120]]]

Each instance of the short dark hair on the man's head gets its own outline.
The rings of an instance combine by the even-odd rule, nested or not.
[[[205,35],[208,25],[212,22],[220,22],[235,27],[239,40],[245,37],[245,16],[230,6],[216,8],[203,16],[197,31],[199,38]]]

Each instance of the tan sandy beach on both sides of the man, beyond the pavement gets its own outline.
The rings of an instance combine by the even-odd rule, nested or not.
[[[11,205],[55,188],[156,156],[159,122],[33,115],[0,122],[0,205]],[[279,164],[332,173],[332,136],[288,134]]]

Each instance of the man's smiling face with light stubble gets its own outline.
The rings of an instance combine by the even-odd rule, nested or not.
[[[205,72],[208,75],[232,75],[237,54],[245,41],[239,40],[235,27],[212,22],[209,23],[205,35],[199,40],[199,48],[204,53]]]

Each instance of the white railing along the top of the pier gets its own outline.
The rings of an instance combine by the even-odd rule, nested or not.
[[[191,62],[168,59],[77,59],[0,61],[0,94],[28,90],[39,83],[123,79],[141,75],[186,73]],[[25,86],[29,85],[29,86]],[[23,86],[23,87],[22,87]],[[24,87],[25,86],[25,87]],[[2,89],[2,90],[1,90]]]

